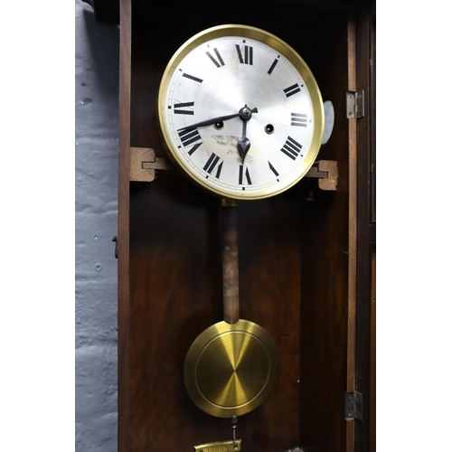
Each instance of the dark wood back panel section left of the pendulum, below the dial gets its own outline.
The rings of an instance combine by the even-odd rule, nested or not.
[[[184,389],[184,359],[198,334],[222,320],[218,200],[184,179],[159,176],[131,195],[131,450],[192,450],[230,437]],[[203,193],[202,193],[203,194]],[[176,432],[176,434],[175,434]]]

